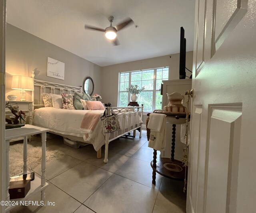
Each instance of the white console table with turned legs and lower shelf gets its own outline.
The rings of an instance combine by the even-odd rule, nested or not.
[[[23,174],[28,173],[28,167],[27,167],[27,145],[28,145],[28,136],[35,135],[35,134],[41,134],[42,137],[42,176],[41,179],[39,177],[35,176],[35,179],[31,181],[31,186],[28,194],[26,197],[21,199],[15,199],[18,201],[27,200],[30,197],[32,197],[34,194],[41,192],[41,201],[45,199],[45,188],[47,187],[48,183],[45,181],[45,170],[46,170],[46,132],[49,130],[46,128],[41,128],[38,126],[33,126],[30,124],[26,124],[25,126],[21,128],[14,128],[14,129],[8,129],[5,130],[5,141],[6,141],[6,167],[5,167],[5,174],[6,174],[6,201],[10,200],[9,195],[9,184],[10,184],[10,172],[9,172],[9,148],[10,148],[10,140],[13,138],[24,138],[23,143]],[[6,207],[6,212],[10,211],[13,206]]]

